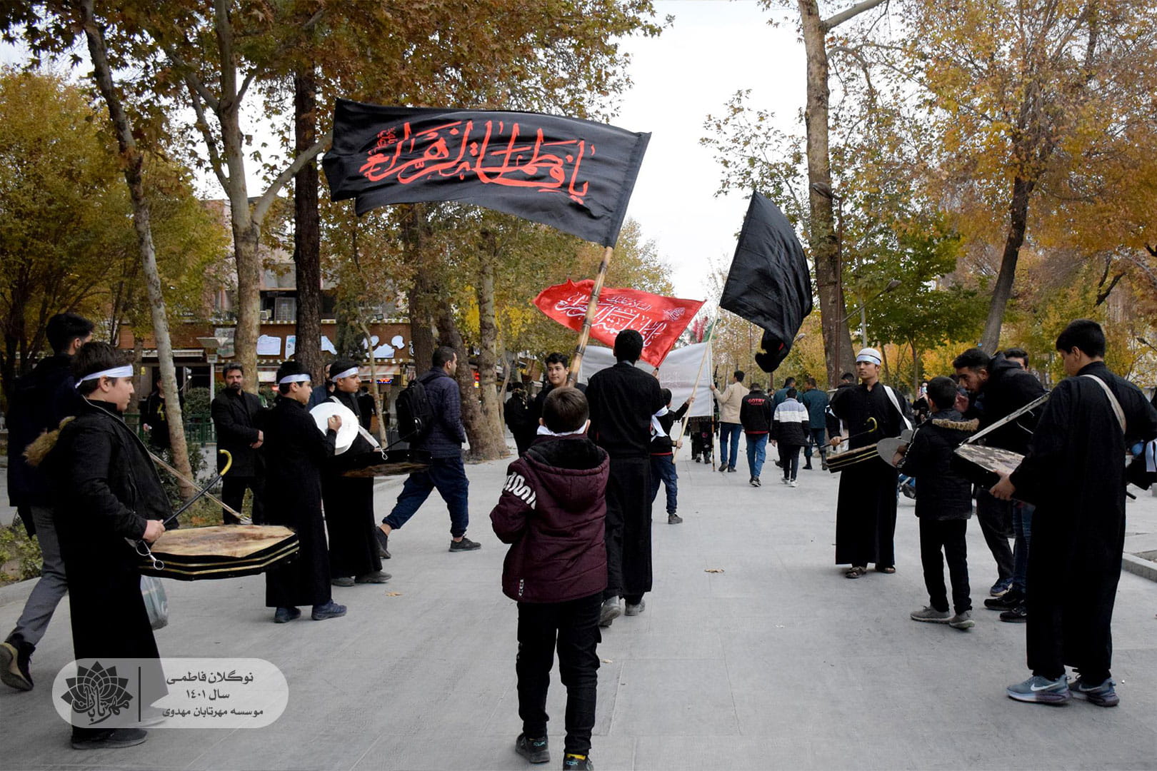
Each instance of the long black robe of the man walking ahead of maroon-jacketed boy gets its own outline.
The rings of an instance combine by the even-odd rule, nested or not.
[[[590,437],[611,457],[604,598],[651,588],[650,418],[665,406],[658,380],[628,362],[591,376]]]

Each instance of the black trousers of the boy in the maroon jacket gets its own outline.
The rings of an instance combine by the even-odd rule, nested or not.
[[[567,689],[566,751],[585,755],[595,728],[598,689],[598,611],[602,593],[567,602],[518,603],[518,717],[528,737],[546,735],[546,691],[554,651]]]

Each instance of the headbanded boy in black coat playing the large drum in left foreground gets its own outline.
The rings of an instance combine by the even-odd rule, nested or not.
[[[57,495],[74,655],[82,666],[91,665],[82,659],[135,659],[143,675],[137,696],[148,706],[168,690],[132,542],[160,538],[171,512],[148,451],[120,417],[133,396],[127,358],[108,343],[90,342],[74,357],[73,375],[87,403],[60,430],[44,467]],[[73,717],[76,749],[130,747],[146,739],[139,727],[76,725],[86,718]]]

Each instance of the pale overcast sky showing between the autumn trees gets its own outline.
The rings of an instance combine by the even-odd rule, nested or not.
[[[633,88],[624,96],[614,125],[650,132],[627,215],[672,267],[680,297],[707,297],[708,259],[730,262],[746,197],[715,198],[720,170],[699,139],[708,114],[721,113],[739,89],[751,89],[751,105],[776,113],[791,127],[804,103],[804,52],[795,22],[782,12],[771,27],[769,12],[754,0],[657,0],[657,16],[675,23],[657,38],[629,38]],[[23,64],[21,51],[0,46],[0,61]],[[80,69],[72,71],[73,76]],[[260,135],[257,126],[249,126]],[[250,164],[257,171],[256,164]],[[221,197],[212,175],[202,193]],[[251,181],[251,194],[260,187]]]

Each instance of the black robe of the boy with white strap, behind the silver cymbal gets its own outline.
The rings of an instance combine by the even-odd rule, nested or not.
[[[334,391],[331,401],[348,407],[364,428],[366,412],[356,394]],[[322,501],[325,504],[325,526],[330,532],[330,574],[333,578],[364,576],[382,570],[382,558],[377,554],[374,528],[374,479],[348,479],[341,472],[349,467],[349,460],[367,452],[374,445],[359,433],[349,450],[336,455],[326,464],[322,474]]]

